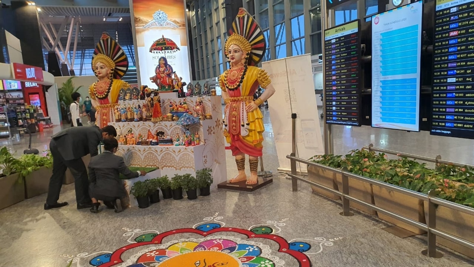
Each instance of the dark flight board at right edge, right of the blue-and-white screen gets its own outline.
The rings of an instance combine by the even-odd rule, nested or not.
[[[474,0],[437,0],[431,134],[474,139]]]

